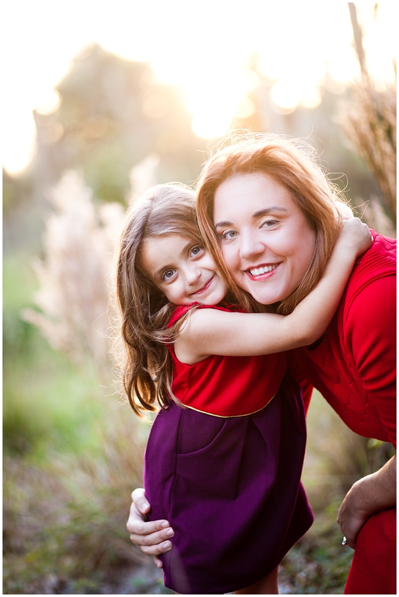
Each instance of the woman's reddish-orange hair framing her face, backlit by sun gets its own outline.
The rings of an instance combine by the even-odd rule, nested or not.
[[[227,146],[225,146],[227,143]],[[242,174],[264,173],[289,190],[316,232],[316,246],[310,266],[298,288],[280,303],[261,306],[237,287],[221,254],[213,214],[216,189],[225,180]],[[243,134],[222,141],[205,163],[197,181],[197,217],[206,248],[227,281],[237,303],[248,311],[270,310],[287,315],[315,287],[323,275],[327,260],[342,226],[336,202],[346,203],[339,188],[327,179],[314,159],[314,150],[302,143],[276,135]]]

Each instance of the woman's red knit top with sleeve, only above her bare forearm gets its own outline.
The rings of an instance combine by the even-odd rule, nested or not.
[[[322,340],[287,360],[350,429],[396,446],[396,241],[371,232]]]

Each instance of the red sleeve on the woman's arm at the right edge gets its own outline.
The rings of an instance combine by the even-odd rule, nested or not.
[[[345,344],[364,389],[396,445],[396,277],[376,279],[352,300],[344,319]]]

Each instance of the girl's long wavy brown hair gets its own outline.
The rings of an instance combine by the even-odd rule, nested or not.
[[[188,236],[203,245],[196,217],[195,194],[180,184],[159,184],[147,190],[126,212],[117,254],[116,294],[122,315],[125,361],[123,386],[132,409],[154,411],[172,397],[172,359],[168,350],[178,324],[168,329],[174,304],[146,275],[140,253],[146,239],[160,235]]]

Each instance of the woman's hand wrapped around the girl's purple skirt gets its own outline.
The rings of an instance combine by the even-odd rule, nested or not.
[[[175,533],[168,521],[147,522],[147,513],[150,509],[144,490],[135,489],[132,493],[132,504],[126,528],[130,533],[132,543],[140,545],[144,553],[153,556],[157,567],[163,568],[162,561],[156,556],[171,549],[172,543],[169,539]]]

